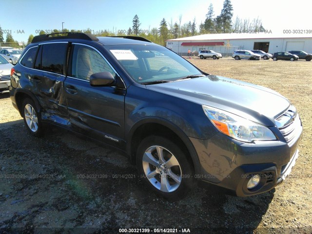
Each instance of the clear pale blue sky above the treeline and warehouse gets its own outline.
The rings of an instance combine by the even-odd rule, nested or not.
[[[312,30],[311,0],[231,0],[234,17],[258,18],[273,34],[283,30]],[[165,18],[168,24],[193,21],[197,28],[204,22],[208,7],[213,4],[215,16],[223,7],[223,0],[1,0],[0,26],[3,38],[6,31],[13,39],[27,42],[30,34],[38,35],[40,30],[49,33],[53,29],[97,31],[127,30],[132,27],[137,14],[141,30],[159,28]],[[11,16],[10,16],[11,14]],[[312,33],[311,33],[312,35]]]

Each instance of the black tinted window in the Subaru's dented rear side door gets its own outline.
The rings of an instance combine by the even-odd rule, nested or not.
[[[64,74],[67,43],[44,44],[42,48],[41,69],[47,72]]]

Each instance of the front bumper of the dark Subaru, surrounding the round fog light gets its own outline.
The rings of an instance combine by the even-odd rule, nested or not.
[[[244,143],[222,133],[208,140],[190,138],[201,165],[196,178],[232,190],[237,196],[270,191],[291,173],[301,138],[302,131],[292,146],[282,140]],[[256,174],[259,186],[248,189],[248,181]]]

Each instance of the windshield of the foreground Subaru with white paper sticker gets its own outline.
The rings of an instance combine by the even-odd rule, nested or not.
[[[203,76],[192,64],[157,45],[105,46],[137,83],[170,82]]]

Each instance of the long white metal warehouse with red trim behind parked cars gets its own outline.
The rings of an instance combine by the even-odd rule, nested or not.
[[[280,34],[272,33],[225,33],[204,34],[187,38],[166,40],[166,47],[186,56],[188,50],[214,50],[223,55],[232,55],[234,50],[263,50],[274,52],[303,50],[312,53],[311,34]]]

